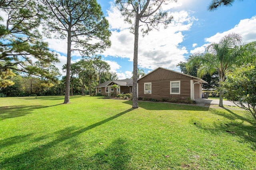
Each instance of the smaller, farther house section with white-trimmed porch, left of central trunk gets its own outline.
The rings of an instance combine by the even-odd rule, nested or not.
[[[119,86],[118,89],[114,89],[113,85],[117,84]],[[132,79],[124,79],[124,80],[113,80],[106,81],[104,83],[99,84],[96,88],[96,94],[101,93],[102,95],[112,96],[112,94],[126,94],[132,92]]]

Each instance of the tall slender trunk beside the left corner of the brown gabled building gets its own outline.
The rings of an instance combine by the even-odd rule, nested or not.
[[[138,8],[136,10],[136,21],[134,28],[134,55],[133,55],[133,81],[132,81],[132,108],[138,108],[138,97],[137,97],[137,80],[138,80],[138,41],[139,41],[139,24],[140,24],[140,16],[138,12]]]

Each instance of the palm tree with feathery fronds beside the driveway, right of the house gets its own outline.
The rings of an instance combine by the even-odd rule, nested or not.
[[[240,59],[240,45],[242,37],[239,34],[232,33],[223,37],[219,43],[212,43],[206,47],[205,53],[194,55],[188,60],[188,67],[200,65],[198,69],[198,76],[202,77],[205,74],[213,74],[218,72],[219,82],[225,80],[225,74],[234,70],[236,64],[241,62]],[[220,103],[223,106],[223,91],[220,86]]]

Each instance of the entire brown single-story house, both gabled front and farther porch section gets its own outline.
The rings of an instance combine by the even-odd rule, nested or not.
[[[202,98],[202,83],[208,83],[201,78],[158,67],[142,78],[138,78],[138,98],[195,100]],[[117,84],[118,89],[112,86]],[[112,93],[132,93],[132,79],[113,80],[99,84],[96,94],[111,96]]]

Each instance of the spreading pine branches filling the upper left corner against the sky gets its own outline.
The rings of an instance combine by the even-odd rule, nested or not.
[[[35,0],[0,1],[0,12],[7,16],[5,20],[0,17],[0,74],[10,75],[18,70],[39,75],[40,69],[33,58],[48,64],[58,61],[38,31],[42,19],[40,8]]]

